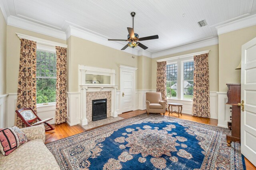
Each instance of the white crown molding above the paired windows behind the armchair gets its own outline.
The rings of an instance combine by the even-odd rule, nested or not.
[[[174,47],[174,48],[166,49],[164,51],[159,51],[159,52],[153,53],[152,58],[162,57],[162,56],[165,56],[165,55],[180,53],[180,52],[184,52],[184,51],[188,51],[188,50],[192,50],[192,49],[198,49],[198,48],[202,48],[202,47],[207,47],[207,46],[210,46],[210,45],[216,45],[218,43],[219,43],[218,37],[211,38],[211,39],[208,39],[208,40],[203,40],[203,41],[200,41],[200,42],[190,43],[190,44],[187,44],[187,45],[182,45],[182,46],[179,46],[179,47]]]

